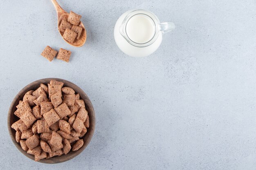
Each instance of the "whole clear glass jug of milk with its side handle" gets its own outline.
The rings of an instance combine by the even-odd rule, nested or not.
[[[126,11],[115,24],[115,42],[121,51],[132,57],[152,54],[162,42],[162,34],[175,29],[173,22],[160,23],[147,10]]]

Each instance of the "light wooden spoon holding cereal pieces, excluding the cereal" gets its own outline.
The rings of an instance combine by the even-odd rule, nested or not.
[[[61,24],[61,21],[63,19],[67,20],[68,18],[68,15],[69,13],[67,13],[66,11],[64,11],[61,6],[58,4],[58,2],[56,0],[51,0],[52,3],[54,4],[54,7],[56,8],[56,11],[57,11],[57,14],[58,14],[58,27],[60,26]],[[83,23],[80,21],[79,23],[79,26],[81,26],[83,28],[82,32],[81,32],[81,35],[79,37],[79,39],[75,40],[74,42],[68,42],[67,40],[65,40],[63,38],[63,32],[61,31],[58,31],[60,34],[61,34],[61,37],[63,38],[63,40],[65,40],[65,42],[67,42],[68,44],[72,45],[72,46],[76,46],[76,47],[80,47],[80,46],[83,46],[83,44],[85,43],[86,41],[86,30],[85,30],[85,27],[83,25]]]

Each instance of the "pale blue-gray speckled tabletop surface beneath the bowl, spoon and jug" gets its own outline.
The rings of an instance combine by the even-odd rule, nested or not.
[[[255,0],[59,0],[83,15],[85,46],[66,44],[50,0],[0,0],[0,169],[255,169]],[[113,28],[142,8],[176,28],[149,57],[117,48]],[[40,56],[72,51],[70,63]],[[7,111],[22,87],[59,77],[80,86],[96,111],[88,148],[65,163],[36,163],[13,145]]]

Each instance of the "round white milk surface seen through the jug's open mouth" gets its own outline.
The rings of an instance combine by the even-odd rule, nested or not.
[[[134,15],[126,24],[126,33],[133,42],[143,44],[155,35],[155,24],[147,15]]]

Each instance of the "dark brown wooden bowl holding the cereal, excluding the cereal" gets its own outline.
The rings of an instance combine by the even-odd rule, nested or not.
[[[76,157],[77,155],[79,155],[86,148],[86,146],[88,146],[88,144],[90,143],[90,141],[92,139],[92,135],[93,135],[94,129],[95,129],[94,108],[92,106],[92,103],[91,103],[89,97],[83,92],[83,90],[81,88],[79,88],[78,86],[76,86],[72,82],[69,82],[69,81],[64,80],[64,79],[58,79],[58,78],[39,79],[39,80],[36,80],[35,82],[32,82],[32,83],[28,84],[24,88],[22,88],[22,90],[13,99],[13,101],[11,103],[11,106],[9,108],[8,118],[7,118],[8,130],[9,130],[9,134],[11,136],[11,140],[13,141],[13,144],[18,148],[18,150],[20,150],[20,152],[22,152],[26,157],[34,160],[34,155],[28,154],[25,150],[23,150],[21,148],[20,144],[16,142],[16,139],[15,139],[16,131],[13,128],[11,128],[11,125],[14,122],[18,121],[18,119],[19,119],[16,115],[13,114],[16,111],[16,106],[18,105],[19,101],[23,99],[23,96],[25,95],[25,93],[27,91],[36,90],[38,87],[40,87],[41,83],[43,83],[43,84],[50,83],[50,80],[52,80],[52,79],[57,80],[59,82],[63,82],[64,83],[63,86],[71,87],[71,88],[74,89],[74,91],[76,93],[80,94],[80,98],[85,101],[85,108],[88,111],[88,115],[90,117],[90,127],[87,129],[87,132],[86,132],[85,136],[83,137],[84,144],[79,150],[70,151],[67,155],[63,154],[59,157],[55,156],[55,157],[52,157],[52,158],[49,158],[49,159],[41,159],[39,161],[41,163],[61,163],[61,162],[68,161],[68,160]]]

